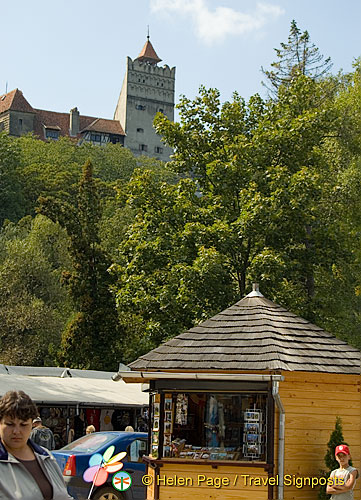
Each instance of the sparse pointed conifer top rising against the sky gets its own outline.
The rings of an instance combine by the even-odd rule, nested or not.
[[[295,20],[291,22],[288,42],[281,43],[280,49],[275,49],[277,61],[271,64],[272,70],[264,70],[272,94],[276,95],[281,85],[289,85],[300,75],[320,80],[332,67],[331,59],[320,53],[315,44],[311,43],[308,31],[303,33]]]

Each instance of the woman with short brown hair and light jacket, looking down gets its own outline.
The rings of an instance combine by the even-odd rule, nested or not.
[[[0,399],[0,499],[69,500],[55,458],[30,439],[38,410],[23,391]]]

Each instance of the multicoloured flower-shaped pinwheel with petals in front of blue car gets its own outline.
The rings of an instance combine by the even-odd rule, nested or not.
[[[122,451],[112,457],[115,446],[109,446],[103,455],[95,453],[89,459],[89,468],[84,471],[83,479],[94,486],[101,486],[108,479],[108,475],[123,468],[121,460],[126,456]],[[93,488],[92,488],[93,489]]]

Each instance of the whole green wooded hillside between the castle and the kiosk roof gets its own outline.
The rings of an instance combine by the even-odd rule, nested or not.
[[[361,60],[333,74],[293,21],[270,68],[158,113],[166,164],[0,134],[1,363],[115,371],[255,281],[361,349]]]

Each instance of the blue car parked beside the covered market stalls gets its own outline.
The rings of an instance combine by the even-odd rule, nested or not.
[[[115,447],[112,456],[126,452],[126,456],[121,460],[124,464],[123,468],[119,472],[124,471],[130,475],[131,487],[126,489],[128,483],[125,482],[124,487],[121,483],[120,488],[123,491],[119,491],[112,484],[113,476],[118,473],[109,473],[104,484],[94,487],[90,498],[92,500],[144,500],[146,491],[142,484],[142,477],[145,474],[145,463],[142,457],[148,453],[148,435],[145,432],[94,432],[73,441],[60,450],[53,451],[63,471],[69,494],[76,500],[89,498],[92,483],[85,482],[83,474],[93,465],[93,463],[89,464],[90,458],[95,453],[103,455],[110,446]]]

